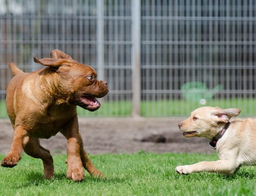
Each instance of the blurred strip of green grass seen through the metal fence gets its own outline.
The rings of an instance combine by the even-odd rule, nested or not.
[[[219,106],[221,108],[238,107],[242,110],[240,117],[256,116],[256,99],[212,99],[207,100],[205,105],[201,105],[199,101],[186,100],[158,100],[158,101],[141,101],[141,116],[157,117],[157,116],[189,116],[190,112],[201,106]],[[131,101],[114,101],[101,102],[101,107],[95,112],[89,112],[81,107],[77,107],[79,116],[131,116]],[[0,118],[7,118],[5,102],[0,101]]]

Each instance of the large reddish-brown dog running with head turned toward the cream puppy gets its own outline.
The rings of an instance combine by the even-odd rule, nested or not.
[[[15,75],[6,95],[7,113],[14,128],[13,141],[3,167],[14,167],[25,153],[42,160],[44,178],[54,176],[50,151],[40,146],[39,138],[50,138],[58,132],[68,140],[67,178],[83,180],[83,167],[96,177],[102,176],[83,149],[78,130],[76,105],[95,111],[100,103],[95,97],[105,96],[109,90],[105,81],[98,81],[94,69],[73,60],[69,55],[51,51],[51,58],[34,61],[47,66],[33,73],[24,73],[9,63]]]

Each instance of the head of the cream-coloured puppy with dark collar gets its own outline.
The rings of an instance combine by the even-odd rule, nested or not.
[[[238,108],[222,110],[219,107],[200,107],[191,112],[188,119],[178,124],[185,137],[206,137],[212,139],[233,116],[238,116]]]

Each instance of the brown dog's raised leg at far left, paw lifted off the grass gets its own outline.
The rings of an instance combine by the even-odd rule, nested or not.
[[[13,140],[8,155],[2,160],[3,167],[14,167],[22,159],[23,140],[27,131],[23,127],[16,127],[13,133]]]

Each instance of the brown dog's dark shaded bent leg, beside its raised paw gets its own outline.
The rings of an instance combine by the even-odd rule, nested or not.
[[[42,160],[45,169],[44,179],[54,177],[53,159],[50,151],[40,145],[38,138],[30,138],[24,146],[24,151],[27,155]]]

